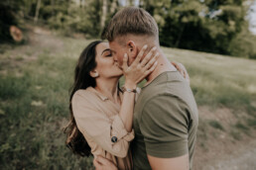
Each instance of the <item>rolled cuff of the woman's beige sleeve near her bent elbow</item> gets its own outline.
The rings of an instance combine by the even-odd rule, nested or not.
[[[111,137],[113,136],[117,137],[117,141],[121,138],[131,141],[134,138],[134,130],[132,129],[131,132],[128,132],[119,115],[116,115],[111,126]]]

